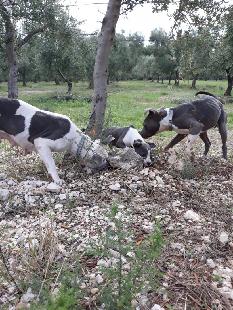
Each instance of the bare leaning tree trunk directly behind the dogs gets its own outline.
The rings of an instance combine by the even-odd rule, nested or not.
[[[120,8],[121,0],[109,0],[102,21],[94,66],[94,94],[92,95],[91,117],[86,130],[86,133],[94,137],[103,129],[107,105],[107,66]]]

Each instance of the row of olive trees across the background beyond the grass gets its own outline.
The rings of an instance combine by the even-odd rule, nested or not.
[[[28,4],[26,4],[28,3]],[[17,21],[21,26],[16,26]],[[67,83],[87,81],[93,87],[98,33],[88,35],[58,0],[18,2],[0,0],[0,82],[8,81],[9,94],[17,97],[16,81]],[[214,30],[190,27],[169,35],[153,29],[149,42],[140,33],[116,33],[108,62],[108,83],[151,80],[179,86],[179,80],[228,79],[231,94],[233,23],[224,21]],[[220,35],[221,34],[221,35]],[[227,76],[226,76],[227,73]],[[17,84],[16,84],[17,85]]]

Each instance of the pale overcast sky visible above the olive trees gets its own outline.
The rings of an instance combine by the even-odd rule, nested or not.
[[[101,28],[103,17],[107,10],[107,4],[91,4],[88,3],[107,3],[106,0],[66,0],[69,5],[80,5],[70,7],[70,13],[77,20],[86,20],[81,26],[81,29],[86,33],[92,33],[94,30]],[[125,34],[128,35],[136,31],[141,32],[145,36],[145,40],[150,37],[151,30],[154,28],[162,27],[169,32],[173,25],[173,20],[169,20],[167,12],[159,14],[152,13],[152,4],[145,4],[143,7],[135,7],[133,11],[128,12],[128,19],[120,15],[117,22],[116,31],[120,32],[121,29],[125,30]],[[149,42],[145,42],[147,45]]]

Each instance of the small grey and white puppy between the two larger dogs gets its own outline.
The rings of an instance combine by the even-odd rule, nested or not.
[[[139,156],[143,158],[144,166],[151,165],[151,148],[155,148],[155,144],[151,142],[144,142],[135,126],[112,126],[103,130],[102,134],[103,137],[111,135],[113,138],[115,138],[113,141],[108,143],[111,151],[114,151],[112,147],[113,145],[117,148],[123,148],[125,151],[131,147]]]

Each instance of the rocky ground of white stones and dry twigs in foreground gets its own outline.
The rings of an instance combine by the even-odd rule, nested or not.
[[[39,308],[45,287],[55,299],[62,272],[79,265],[80,309],[107,309],[106,288],[109,295],[119,290],[109,270],[120,268],[123,283],[141,257],[144,274],[130,282],[132,308],[233,309],[233,142],[224,164],[218,134],[209,136],[210,157],[198,159],[199,142],[196,162],[187,164],[183,154],[180,171],[169,156],[179,158],[182,144],[165,154],[157,149],[160,160],[149,168],[84,171],[55,155],[62,187],[51,182],[38,154],[2,148],[0,306]],[[154,249],[151,236],[160,232]],[[139,249],[159,253],[151,259]]]

